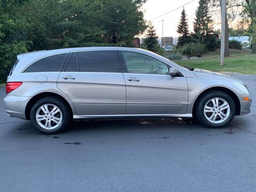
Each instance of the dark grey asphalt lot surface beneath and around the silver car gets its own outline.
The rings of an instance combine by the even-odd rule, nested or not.
[[[75,122],[57,135],[8,117],[0,87],[0,191],[255,191],[256,75],[239,75],[252,112],[226,128],[182,119]]]

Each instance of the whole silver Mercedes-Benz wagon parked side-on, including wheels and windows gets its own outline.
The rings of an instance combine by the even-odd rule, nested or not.
[[[6,83],[10,117],[47,134],[72,120],[186,117],[218,128],[251,111],[241,80],[181,67],[155,53],[126,47],[83,47],[23,53]]]

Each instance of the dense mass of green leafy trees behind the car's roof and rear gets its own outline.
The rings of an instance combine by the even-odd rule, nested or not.
[[[16,55],[83,46],[133,46],[145,0],[0,0],[0,83]]]

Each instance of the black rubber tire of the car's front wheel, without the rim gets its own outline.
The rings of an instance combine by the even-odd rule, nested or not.
[[[208,121],[204,115],[205,104],[213,98],[222,98],[222,99],[226,100],[230,107],[229,116],[227,117],[227,119],[225,121],[223,121],[221,123],[212,123],[212,122]],[[195,113],[196,113],[197,119],[205,126],[210,127],[210,128],[221,128],[221,127],[225,127],[233,120],[235,113],[236,113],[236,105],[235,105],[234,100],[227,93],[221,92],[221,91],[213,91],[213,92],[206,93],[199,100],[199,102],[197,103],[197,106],[196,106]]]

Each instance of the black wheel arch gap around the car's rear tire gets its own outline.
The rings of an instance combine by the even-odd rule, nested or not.
[[[33,107],[33,105],[36,103],[36,101],[45,98],[45,97],[56,97],[60,100],[62,100],[63,102],[65,102],[65,104],[68,106],[68,110],[70,111],[70,115],[71,118],[73,119],[73,115],[76,114],[74,106],[73,108],[71,107],[71,104],[61,95],[54,93],[54,92],[41,92],[38,93],[36,95],[34,95],[27,103],[26,108],[25,108],[25,116],[26,119],[30,120],[30,112],[31,112],[31,108]],[[73,104],[72,104],[73,105]]]

